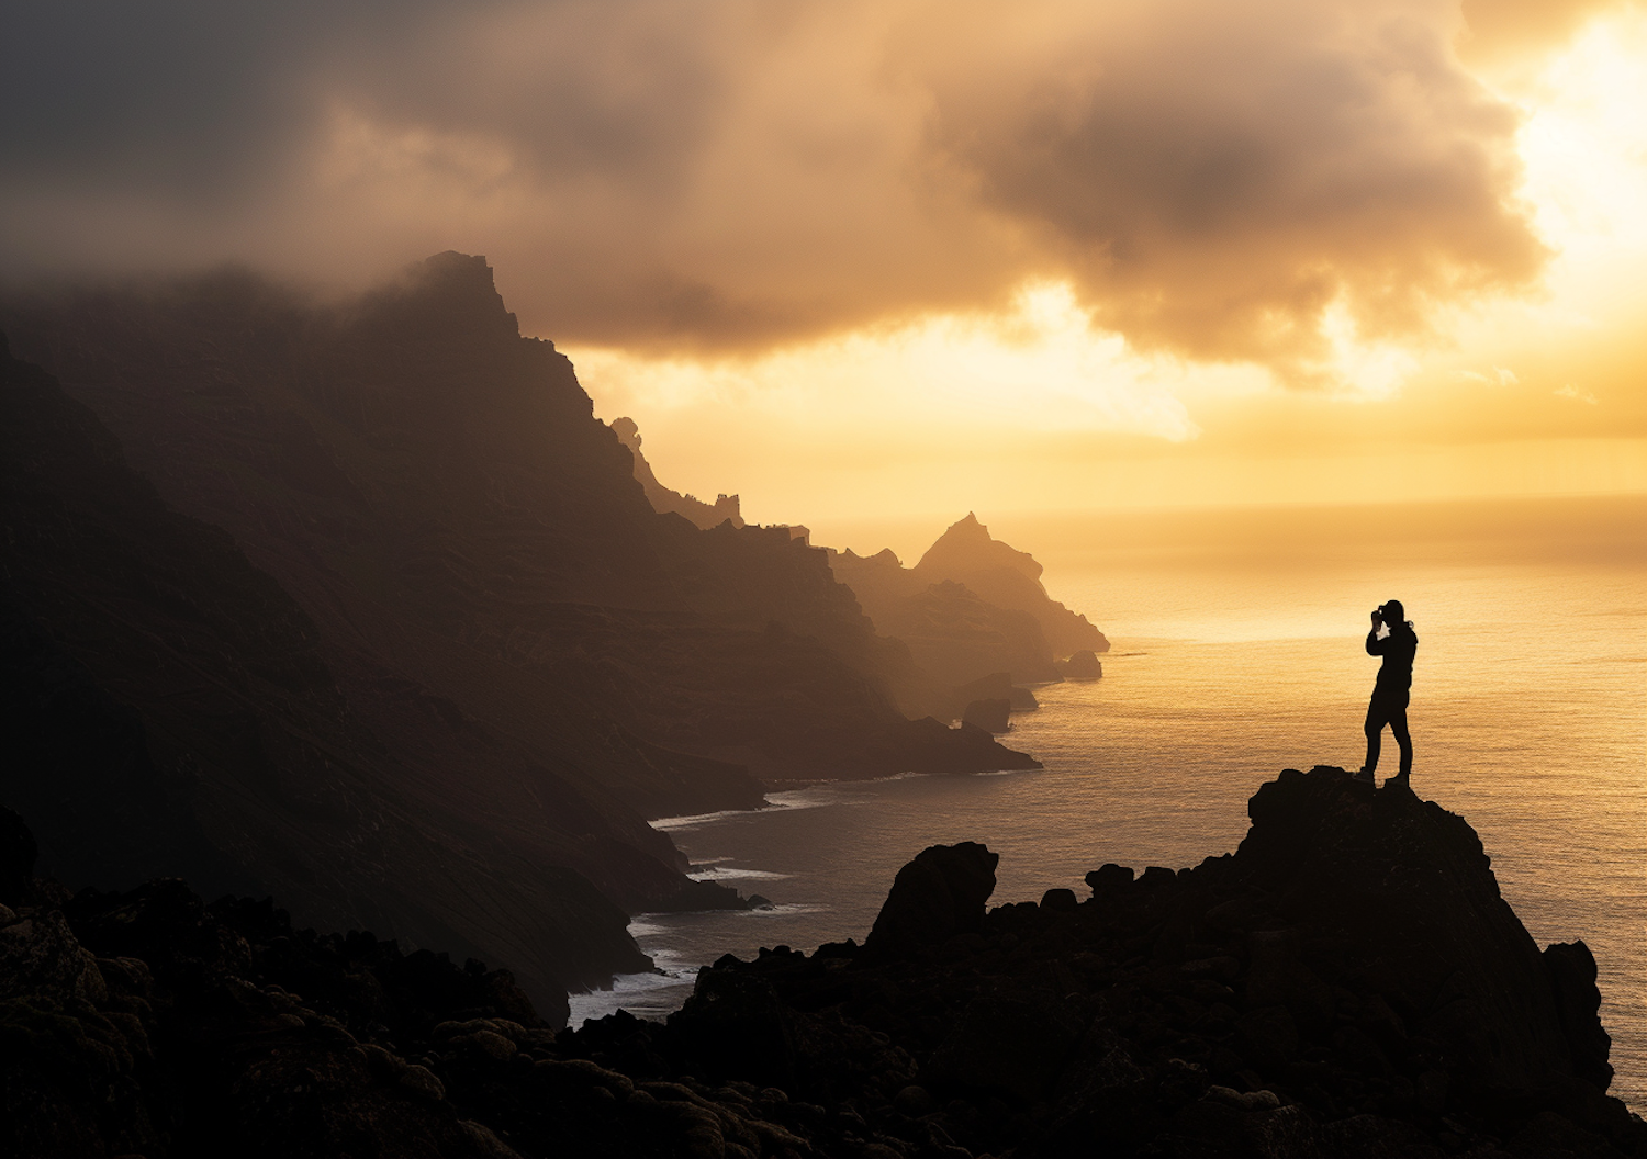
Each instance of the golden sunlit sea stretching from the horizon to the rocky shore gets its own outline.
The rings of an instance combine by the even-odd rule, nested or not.
[[[898,543],[881,530],[850,547]],[[1474,825],[1540,945],[1596,952],[1612,1092],[1647,1110],[1647,500],[991,530],[1046,563],[1052,596],[1113,644],[1102,680],[1041,688],[1041,710],[1015,718],[1006,742],[1046,770],[817,785],[759,813],[659,822],[698,876],[776,907],[636,919],[660,973],[573,996],[575,1021],[619,1006],[660,1017],[721,953],[861,940],[927,845],[998,851],[996,902],[1084,894],[1105,861],[1178,868],[1234,849],[1247,798],[1276,772],[1360,764],[1367,612],[1402,599],[1420,637],[1413,789]],[[1380,777],[1395,770],[1388,739],[1383,764]]]

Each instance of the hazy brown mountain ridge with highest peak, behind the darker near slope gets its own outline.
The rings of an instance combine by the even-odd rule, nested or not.
[[[369,690],[410,682],[614,823],[753,805],[751,770],[899,770],[881,738],[916,736],[888,695],[901,657],[822,553],[656,514],[484,258],[343,306],[222,273],[3,313],[171,505],[293,596],[357,711],[385,701],[385,744],[400,710]],[[1021,761],[919,736],[932,767]]]

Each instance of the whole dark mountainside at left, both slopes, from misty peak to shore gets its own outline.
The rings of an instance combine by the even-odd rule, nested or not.
[[[0,314],[0,795],[69,884],[273,891],[507,961],[553,1016],[644,965],[626,912],[740,904],[646,818],[1034,767],[898,710],[907,650],[824,552],[656,514],[484,258]]]

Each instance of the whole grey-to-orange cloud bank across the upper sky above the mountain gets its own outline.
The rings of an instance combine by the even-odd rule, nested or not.
[[[18,0],[0,262],[321,280],[484,252],[524,324],[761,351],[1067,282],[1311,380],[1530,285],[1443,0]]]

